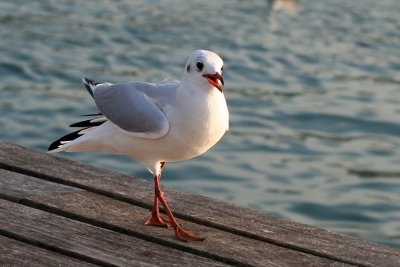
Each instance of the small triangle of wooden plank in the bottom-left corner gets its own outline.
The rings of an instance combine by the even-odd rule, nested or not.
[[[0,235],[0,266],[4,267],[90,267],[97,266]]]

